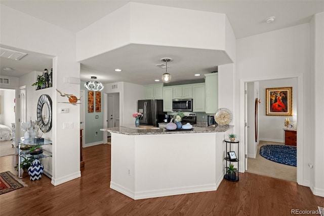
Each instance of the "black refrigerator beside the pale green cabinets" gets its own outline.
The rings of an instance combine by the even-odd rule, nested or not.
[[[139,100],[137,103],[140,117],[140,125],[153,125],[163,122],[167,112],[163,112],[163,100]]]

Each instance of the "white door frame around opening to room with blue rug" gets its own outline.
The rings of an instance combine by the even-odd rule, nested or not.
[[[249,78],[249,79],[239,79],[240,82],[240,107],[245,107],[245,83],[248,82],[257,82],[257,81],[266,81],[266,80],[279,80],[279,79],[289,79],[289,78],[297,78],[297,131],[303,131],[304,129],[304,107],[303,107],[303,74],[292,74],[292,75],[282,75],[282,76],[274,76],[274,77],[260,77],[260,78]],[[245,109],[240,110],[240,128],[245,128]],[[240,137],[244,137],[245,140],[245,130],[240,130]],[[247,145],[248,143],[245,143]],[[241,152],[244,154],[248,154],[246,152],[245,145],[241,145]],[[307,183],[304,182],[303,174],[304,174],[304,159],[303,159],[303,133],[298,133],[297,136],[297,184],[306,186]],[[243,149],[244,148],[244,149]],[[241,155],[242,156],[242,155]],[[241,157],[240,156],[240,157]],[[245,167],[245,160],[242,160],[240,166]]]

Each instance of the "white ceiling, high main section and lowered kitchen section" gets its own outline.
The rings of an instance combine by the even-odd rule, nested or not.
[[[7,7],[16,9],[33,17],[42,19],[49,23],[61,26],[72,32],[77,32],[96,20],[115,11],[121,6],[129,2],[139,2],[151,5],[161,5],[177,8],[185,8],[199,11],[208,11],[216,13],[224,13],[227,15],[236,39],[248,37],[250,35],[264,33],[280,28],[294,26],[297,24],[307,23],[313,14],[324,11],[324,1],[0,1]],[[275,16],[275,22],[267,24],[265,19]],[[2,46],[3,47],[3,46]],[[5,47],[6,48],[6,47]],[[125,52],[125,51],[129,52]],[[18,50],[19,51],[19,50]],[[123,52],[124,51],[124,52]],[[150,55],[147,55],[149,51]],[[82,63],[81,78],[83,81],[89,80],[90,76],[97,76],[103,83],[126,81],[138,84],[149,84],[154,82],[156,78],[160,78],[163,70],[155,64],[161,63],[158,60],[161,57],[173,57],[174,61],[169,65],[170,74],[173,75],[173,81],[190,80],[194,72],[207,73],[215,68],[215,58],[221,56],[210,57],[210,53],[204,50],[195,50],[201,58],[197,59],[191,54],[190,49],[183,48],[161,48],[158,46],[140,46],[130,45],[120,50],[115,50],[94,58],[85,60]],[[26,62],[32,67],[37,58],[38,61],[44,60],[39,55],[29,54],[22,60],[30,60]],[[120,53],[123,58],[120,58]],[[119,56],[118,56],[119,55]],[[27,58],[28,57],[28,58]],[[48,57],[48,56],[47,56]],[[141,57],[141,58],[140,58]],[[106,64],[107,58],[110,62],[118,62],[123,65],[123,71],[119,74],[110,73],[112,66]],[[48,59],[45,57],[45,59]],[[104,60],[105,59],[105,60]],[[2,75],[4,66],[10,66],[7,60],[1,60]],[[17,66],[23,61],[16,61]],[[213,63],[211,63],[213,62]],[[6,64],[5,64],[6,63]],[[8,65],[7,65],[8,63]],[[38,66],[39,62],[34,64]],[[187,66],[186,66],[187,65]],[[21,65],[19,65],[21,66]],[[48,66],[42,65],[41,70]],[[26,72],[29,67],[24,67],[23,71],[15,68],[19,73],[6,76],[19,77],[21,73]],[[39,69],[31,69],[39,70]],[[108,73],[107,73],[108,72]],[[180,76],[181,74],[181,76]],[[180,77],[178,77],[178,75]],[[195,79],[195,78],[193,78]],[[199,78],[198,78],[199,79]],[[201,78],[200,78],[201,79]]]

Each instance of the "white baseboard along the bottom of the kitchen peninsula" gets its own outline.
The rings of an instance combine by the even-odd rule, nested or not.
[[[218,183],[219,185],[220,183]],[[216,184],[208,184],[208,185],[198,185],[192,187],[179,187],[179,188],[167,188],[161,190],[150,190],[150,191],[142,191],[135,193],[134,191],[129,190],[119,184],[114,182],[110,182],[110,188],[122,193],[134,200],[138,199],[147,199],[154,197],[164,197],[164,196],[173,196],[180,194],[190,194],[190,193],[198,193],[198,192],[207,192],[207,191],[216,191]]]

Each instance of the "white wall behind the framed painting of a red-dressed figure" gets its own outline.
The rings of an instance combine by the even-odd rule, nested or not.
[[[261,103],[259,104],[260,113],[260,140],[273,141],[273,142],[285,142],[285,128],[284,122],[286,118],[293,122],[292,116],[266,116],[265,107],[265,89],[266,88],[277,88],[277,87],[293,87],[293,115],[297,115],[297,79],[280,79],[280,80],[269,80],[260,81],[260,98]]]

